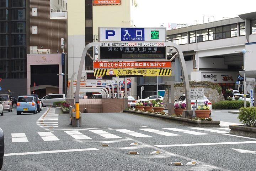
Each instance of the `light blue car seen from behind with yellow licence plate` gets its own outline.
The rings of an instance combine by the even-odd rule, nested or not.
[[[34,96],[19,96],[17,102],[17,115],[23,113],[37,113],[37,102]]]

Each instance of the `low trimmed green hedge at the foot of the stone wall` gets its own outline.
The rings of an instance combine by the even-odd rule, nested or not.
[[[244,107],[244,101],[220,101],[212,104],[212,109],[240,109]],[[250,102],[246,101],[246,107],[250,107]]]

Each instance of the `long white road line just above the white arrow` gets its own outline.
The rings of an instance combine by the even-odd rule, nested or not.
[[[184,146],[208,146],[208,145],[225,145],[225,144],[251,144],[256,141],[240,141],[240,142],[218,142],[218,143],[196,143],[196,144],[170,144],[170,145],[155,145],[156,147],[184,147]]]

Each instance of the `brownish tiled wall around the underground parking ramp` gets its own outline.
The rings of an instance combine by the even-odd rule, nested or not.
[[[66,102],[75,106],[75,99],[66,99]],[[122,112],[127,107],[128,99],[79,99],[79,111],[81,113],[84,113],[85,108],[87,113],[111,113]]]

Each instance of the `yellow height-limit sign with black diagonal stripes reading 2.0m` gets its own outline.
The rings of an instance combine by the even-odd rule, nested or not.
[[[170,76],[171,69],[95,69],[94,76]]]

